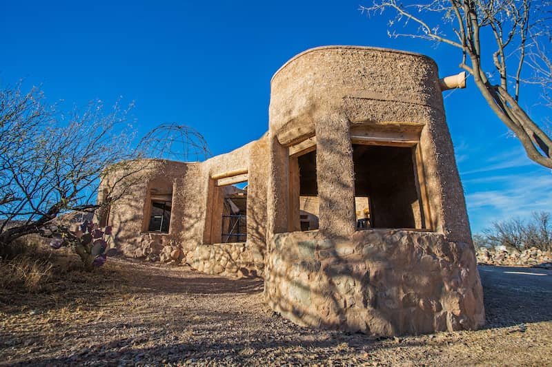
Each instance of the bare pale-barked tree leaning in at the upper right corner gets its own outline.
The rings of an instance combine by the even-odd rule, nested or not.
[[[390,26],[404,23],[406,32],[390,31],[390,36],[458,48],[462,52],[460,67],[473,76],[489,107],[517,136],[527,156],[552,168],[550,136],[520,105],[523,83],[533,83],[542,87],[544,100],[552,107],[549,1],[430,0],[403,5],[396,0],[375,0],[372,6],[360,9],[368,14],[392,10]],[[414,28],[408,28],[411,26]]]

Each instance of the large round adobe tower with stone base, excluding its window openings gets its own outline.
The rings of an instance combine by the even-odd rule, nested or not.
[[[265,296],[299,324],[377,335],[477,328],[480,278],[437,66],[426,56],[331,46],[295,56],[273,77]],[[428,232],[355,232],[350,136],[421,129],[415,148]],[[294,232],[290,146],[315,137],[319,231]],[[417,218],[420,222],[420,218]]]

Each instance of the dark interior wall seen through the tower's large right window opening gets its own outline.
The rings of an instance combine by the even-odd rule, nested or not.
[[[413,148],[353,145],[355,196],[368,196],[373,228],[419,228]]]

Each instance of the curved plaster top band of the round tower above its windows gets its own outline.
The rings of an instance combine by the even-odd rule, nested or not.
[[[345,114],[357,121],[431,120],[443,114],[435,61],[421,54],[326,46],[298,54],[271,81],[269,128],[282,144],[315,131],[314,121]]]

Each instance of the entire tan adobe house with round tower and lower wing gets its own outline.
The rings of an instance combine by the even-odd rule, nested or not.
[[[273,76],[264,136],[203,162],[148,160],[102,220],[124,255],[263,277],[268,305],[297,324],[478,328],[482,286],[442,100],[463,81],[411,52],[307,50]]]

